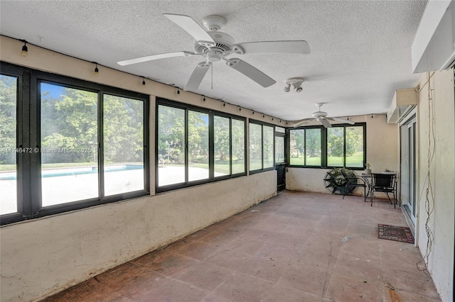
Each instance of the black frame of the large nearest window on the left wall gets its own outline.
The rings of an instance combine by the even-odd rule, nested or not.
[[[13,65],[7,62],[0,62],[1,74],[18,77],[18,110],[17,110],[17,147],[41,148],[41,83],[55,84],[84,91],[94,91],[98,94],[97,108],[97,133],[98,133],[98,170],[104,171],[102,160],[102,96],[109,94],[129,99],[144,101],[144,189],[139,191],[126,192],[112,196],[104,196],[103,173],[99,173],[97,198],[89,198],[80,201],[60,203],[54,206],[42,206],[41,201],[41,152],[17,153],[17,213],[7,213],[0,217],[1,225],[16,223],[22,220],[41,218],[58,213],[79,210],[105,203],[122,201],[129,198],[146,196],[150,194],[149,179],[149,95],[140,94],[135,91],[128,91],[114,86],[107,86],[88,82],[82,79],[75,79],[60,74],[43,72]],[[30,188],[30,189],[28,189]]]

